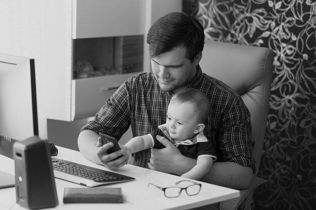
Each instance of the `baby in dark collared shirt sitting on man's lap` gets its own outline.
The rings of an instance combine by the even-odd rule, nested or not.
[[[164,136],[184,156],[197,159],[196,165],[182,177],[199,180],[216,160],[213,144],[203,135],[203,122],[209,114],[209,103],[207,97],[196,89],[180,91],[169,103],[165,124],[149,134],[130,139],[121,148],[128,154],[147,148],[162,149],[164,145],[157,141],[156,135]]]

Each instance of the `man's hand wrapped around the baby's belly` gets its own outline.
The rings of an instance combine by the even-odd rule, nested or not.
[[[166,148],[151,149],[149,169],[181,176],[195,165],[196,160],[183,156],[167,138],[160,135],[156,138]]]

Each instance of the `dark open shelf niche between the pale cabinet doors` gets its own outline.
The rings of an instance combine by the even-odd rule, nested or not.
[[[74,39],[73,79],[143,71],[144,37]]]

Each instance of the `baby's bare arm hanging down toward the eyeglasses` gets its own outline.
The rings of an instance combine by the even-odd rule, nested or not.
[[[197,157],[196,165],[187,173],[181,177],[199,180],[202,178],[210,169],[213,164],[213,158],[209,156]]]

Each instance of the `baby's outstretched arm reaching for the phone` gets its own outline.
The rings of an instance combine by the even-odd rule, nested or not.
[[[151,147],[153,147],[153,141],[147,134],[133,137],[124,146],[121,146],[121,149],[123,149],[128,154],[132,154]]]

